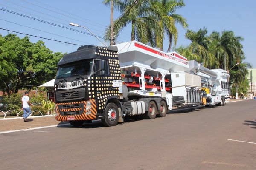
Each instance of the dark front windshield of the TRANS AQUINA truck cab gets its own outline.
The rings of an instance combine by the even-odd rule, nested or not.
[[[90,75],[92,71],[93,60],[87,59],[77,62],[60,65],[58,67],[56,79],[68,78],[73,76],[86,76]]]

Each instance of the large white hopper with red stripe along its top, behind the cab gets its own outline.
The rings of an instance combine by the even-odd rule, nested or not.
[[[116,45],[121,67],[146,65],[155,70],[189,71],[189,62],[180,55],[171,55],[137,41]]]

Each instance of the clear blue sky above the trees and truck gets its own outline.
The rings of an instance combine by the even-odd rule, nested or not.
[[[90,32],[86,29],[69,25],[70,22],[77,23],[85,26],[95,35],[103,37],[105,29],[110,24],[110,7],[103,5],[102,1],[0,0],[0,28],[9,30],[0,29],[0,34],[5,36],[8,33],[12,33],[17,34],[20,38],[25,36],[12,32],[16,31],[35,35],[38,37],[29,36],[31,42],[43,40],[47,48],[54,52],[70,53],[76,51],[79,47],[78,45],[91,44],[102,46],[102,43],[90,35]],[[200,28],[206,27],[208,34],[212,31],[234,31],[236,36],[244,38],[241,44],[244,47],[245,62],[250,62],[253,68],[256,68],[256,1],[184,0],[184,3],[186,6],[178,9],[175,13],[186,18],[189,29],[198,31]],[[119,16],[120,13],[114,11],[114,19]],[[186,30],[178,24],[177,28],[177,47],[189,45],[190,40],[187,40],[184,36]],[[39,37],[78,45],[45,40]],[[130,39],[131,25],[128,25],[122,30],[117,43],[128,42]],[[102,39],[100,38],[100,40]],[[108,42],[105,42],[105,44],[108,45]],[[168,41],[166,39],[164,41],[165,52],[167,48]]]

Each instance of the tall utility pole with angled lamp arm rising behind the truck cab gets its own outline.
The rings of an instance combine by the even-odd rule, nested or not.
[[[111,5],[110,5],[110,44],[109,45],[115,45],[114,42],[114,28],[116,26],[116,24],[122,19],[122,17],[124,17],[130,10],[131,8],[136,5],[138,3],[138,0],[134,0],[132,6],[125,12],[125,14],[122,15],[122,17],[116,22],[116,24],[114,25],[114,21],[113,21],[113,8],[114,8],[114,1],[111,0]]]

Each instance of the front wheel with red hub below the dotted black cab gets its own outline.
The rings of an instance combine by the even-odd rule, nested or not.
[[[102,119],[102,123],[105,126],[115,126],[118,124],[119,111],[114,103],[108,103],[105,108],[105,118]]]

